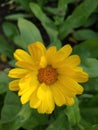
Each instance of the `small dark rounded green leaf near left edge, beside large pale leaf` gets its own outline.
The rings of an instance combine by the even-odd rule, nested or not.
[[[10,39],[19,34],[16,26],[12,23],[4,22],[2,27],[5,35]]]

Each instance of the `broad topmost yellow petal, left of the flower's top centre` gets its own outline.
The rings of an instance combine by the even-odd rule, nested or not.
[[[35,43],[30,44],[28,46],[28,49],[31,56],[35,60],[38,60],[38,61],[40,60],[42,56],[45,55],[45,52],[46,52],[46,48],[41,42],[35,42]]]

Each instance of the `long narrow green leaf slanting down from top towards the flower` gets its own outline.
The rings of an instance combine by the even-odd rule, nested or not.
[[[41,21],[43,27],[46,29],[51,42],[54,42],[57,38],[58,32],[56,30],[56,26],[53,21],[46,16],[46,14],[41,10],[39,5],[35,3],[30,3],[30,8],[34,15]]]

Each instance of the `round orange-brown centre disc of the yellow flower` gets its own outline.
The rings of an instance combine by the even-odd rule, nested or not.
[[[45,83],[47,85],[53,84],[57,80],[57,72],[56,69],[52,68],[52,66],[48,65],[45,68],[41,68],[38,73],[38,80],[40,83]]]

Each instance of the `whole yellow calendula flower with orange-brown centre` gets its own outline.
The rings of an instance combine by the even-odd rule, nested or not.
[[[29,53],[17,49],[14,57],[16,66],[9,71],[9,77],[15,80],[9,83],[9,89],[18,91],[21,103],[30,103],[39,113],[52,113],[57,106],[74,104],[74,97],[83,92],[79,84],[88,80],[78,55],[71,55],[71,46],[60,50],[55,46],[46,49],[36,42],[28,46]]]

